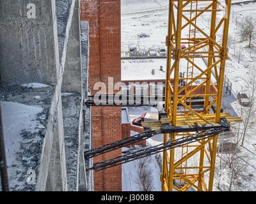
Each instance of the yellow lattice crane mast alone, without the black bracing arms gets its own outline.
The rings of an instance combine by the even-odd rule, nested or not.
[[[218,123],[229,117],[221,113],[221,96],[230,5],[231,0],[170,0],[165,112],[172,126]],[[193,98],[203,98],[204,108],[192,108]],[[189,134],[164,134],[164,142]],[[162,191],[212,191],[217,140],[214,136],[165,150]]]

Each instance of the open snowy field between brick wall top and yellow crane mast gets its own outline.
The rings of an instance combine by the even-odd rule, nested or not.
[[[159,4],[154,1],[122,1],[122,52],[126,52],[132,43],[147,48],[159,48],[165,44],[168,10],[156,8],[159,8]],[[150,37],[139,38],[137,34],[140,33],[149,34]]]

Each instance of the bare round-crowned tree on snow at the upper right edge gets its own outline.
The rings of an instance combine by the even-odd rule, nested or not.
[[[252,16],[244,17],[239,22],[239,35],[241,40],[249,40],[248,47],[251,47],[252,39],[256,34],[256,19]]]

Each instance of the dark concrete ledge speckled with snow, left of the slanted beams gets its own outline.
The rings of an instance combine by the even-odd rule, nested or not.
[[[2,105],[3,112],[6,112],[3,115],[4,120],[8,119],[7,116],[12,117],[13,114],[17,114],[16,116],[13,115],[13,117],[24,115],[26,112],[23,113],[23,106],[39,106],[42,108],[42,112],[38,113],[35,119],[31,119],[38,120],[36,127],[31,127],[31,124],[23,124],[21,131],[17,135],[13,135],[8,129],[4,131],[6,141],[12,140],[9,137],[15,136],[16,138],[16,141],[6,143],[6,149],[8,150],[6,154],[8,157],[10,157],[10,154],[12,155],[12,158],[7,159],[8,172],[10,174],[10,189],[12,191],[33,191],[36,189],[35,184],[26,183],[26,179],[28,178],[26,172],[29,169],[34,170],[37,180],[53,92],[54,87],[32,89],[13,85],[12,87],[2,86],[0,88],[1,101],[6,101],[4,104],[13,102],[13,104],[20,105],[19,112],[13,112],[14,110],[10,108],[7,110]],[[25,118],[31,117],[31,114],[26,114],[28,115],[24,115]],[[19,124],[9,125],[12,129],[19,129]],[[8,126],[4,128],[8,128]]]

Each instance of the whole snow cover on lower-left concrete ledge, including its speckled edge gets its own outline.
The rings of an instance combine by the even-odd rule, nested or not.
[[[29,170],[28,166],[36,166],[32,163],[38,162],[33,154],[42,143],[40,131],[44,126],[37,120],[37,115],[43,108],[7,101],[2,102],[1,107],[10,188],[25,190],[28,189],[28,175],[24,172]],[[33,151],[33,154],[28,154],[29,151]],[[30,164],[26,166],[26,163]]]

